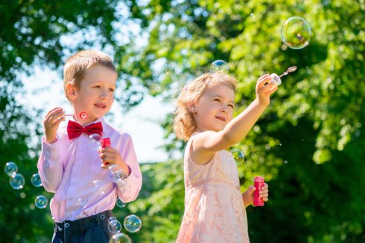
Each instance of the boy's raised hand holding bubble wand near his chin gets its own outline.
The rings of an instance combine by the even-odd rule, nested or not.
[[[63,108],[56,107],[52,110],[49,110],[45,119],[43,119],[43,126],[45,128],[45,142],[50,144],[55,142],[57,129],[59,128],[59,124],[61,121],[65,119],[65,112],[63,112]]]

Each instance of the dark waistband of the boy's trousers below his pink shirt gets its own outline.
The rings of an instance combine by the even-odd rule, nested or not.
[[[111,217],[111,210],[100,212],[97,215],[86,217],[83,219],[77,219],[75,221],[65,220],[63,222],[54,221],[54,232],[63,231],[84,231],[86,228],[97,226],[100,224],[106,224],[109,217]]]

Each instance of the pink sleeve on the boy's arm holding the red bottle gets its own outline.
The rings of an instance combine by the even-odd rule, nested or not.
[[[120,148],[120,151],[123,160],[130,167],[130,175],[123,179],[123,183],[118,183],[117,194],[122,201],[128,203],[137,198],[142,187],[142,175],[141,169],[139,168],[139,162],[134,151],[132,137],[127,134],[124,134],[124,136],[127,136],[125,140],[126,142],[121,143],[121,146],[124,146],[124,148]]]

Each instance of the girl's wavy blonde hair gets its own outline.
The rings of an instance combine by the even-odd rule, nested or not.
[[[215,72],[203,74],[185,85],[183,92],[178,97],[173,120],[173,131],[179,139],[189,140],[196,129],[193,113],[189,110],[188,103],[198,101],[205,90],[219,84],[227,85],[234,91],[237,80],[222,72]]]

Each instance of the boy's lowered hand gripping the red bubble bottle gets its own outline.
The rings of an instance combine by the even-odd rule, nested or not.
[[[102,169],[108,169],[110,165],[116,165],[118,167],[117,169],[123,169],[125,174],[130,174],[130,169],[127,163],[125,163],[123,158],[121,158],[121,155],[116,149],[109,146],[100,149],[99,153],[100,158],[102,159]]]

